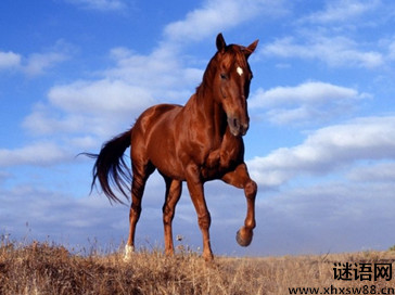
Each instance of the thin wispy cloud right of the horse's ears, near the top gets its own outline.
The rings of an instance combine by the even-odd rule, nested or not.
[[[272,43],[263,46],[264,55],[280,57],[298,57],[319,60],[329,66],[355,66],[374,68],[384,64],[384,56],[378,51],[361,50],[355,41],[347,37],[326,37],[323,35],[308,35],[306,40],[297,41],[294,37],[277,39]]]

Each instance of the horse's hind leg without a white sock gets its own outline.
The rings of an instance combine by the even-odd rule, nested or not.
[[[175,216],[176,205],[181,196],[182,182],[165,177],[166,198],[163,205],[163,225],[165,230],[165,253],[174,254],[171,222]]]

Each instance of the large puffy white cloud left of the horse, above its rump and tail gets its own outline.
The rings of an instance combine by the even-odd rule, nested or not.
[[[77,145],[84,148],[87,142],[79,140],[81,136],[114,136],[154,103],[149,90],[122,80],[76,81],[51,88],[48,103],[37,104],[23,127],[35,136],[61,132],[68,143],[84,143]]]

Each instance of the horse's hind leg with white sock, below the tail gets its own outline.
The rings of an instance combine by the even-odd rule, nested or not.
[[[146,179],[154,171],[154,169],[155,168],[151,165],[144,165],[139,168],[139,166],[133,163],[133,179],[131,182],[131,205],[129,211],[129,236],[125,246],[125,261],[130,259],[131,253],[135,251],[136,225],[139,221],[141,214],[141,200],[144,193]]]

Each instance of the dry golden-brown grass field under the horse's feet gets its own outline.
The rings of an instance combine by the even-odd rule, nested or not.
[[[217,257],[206,264],[195,253],[166,257],[141,251],[131,262],[122,254],[74,255],[65,247],[33,242],[17,246],[0,241],[0,294],[290,294],[289,287],[395,287],[391,281],[333,279],[334,262],[395,266],[395,252],[267,258]],[[341,293],[341,287],[343,292]],[[366,290],[365,290],[366,291]],[[329,293],[331,294],[331,293]],[[364,293],[360,294],[373,294]],[[388,293],[391,294],[391,293]]]

